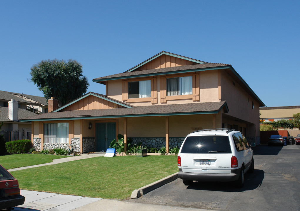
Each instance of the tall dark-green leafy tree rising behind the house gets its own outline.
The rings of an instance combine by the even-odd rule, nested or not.
[[[76,60],[42,60],[30,68],[31,81],[46,99],[55,97],[60,106],[85,94],[89,83]]]

